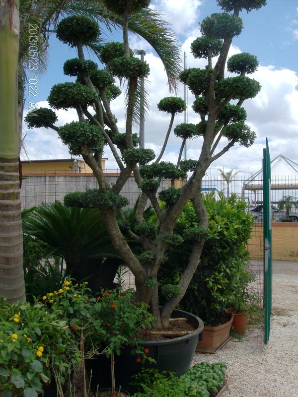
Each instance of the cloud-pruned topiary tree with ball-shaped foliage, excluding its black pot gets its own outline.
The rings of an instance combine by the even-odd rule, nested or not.
[[[243,27],[239,18],[240,10],[258,9],[266,2],[251,0],[248,5],[239,7],[237,1],[228,4],[226,1],[218,1],[225,12],[213,14],[200,24],[202,37],[195,40],[192,52],[196,58],[206,59],[207,65],[202,69],[183,70],[180,80],[195,95],[193,108],[200,115],[201,122],[198,125],[182,123],[175,127],[174,133],[182,142],[176,164],[161,161],[161,158],[175,114],[186,109],[181,98],[166,97],[157,105],[160,111],[170,116],[169,129],[158,156],[150,149],[138,147],[138,138],[133,134],[133,121],[138,109],[136,105],[140,100],[140,79],[149,75],[149,66],[134,57],[130,51],[127,23],[130,14],[147,7],[149,0],[105,0],[104,3],[112,12],[123,17],[123,43],[108,43],[100,48],[96,47],[99,49],[104,69],[99,69],[94,62],[84,58],[83,46],[87,43],[92,43],[93,46],[98,44],[100,32],[94,21],[84,17],[70,17],[62,20],[57,28],[58,38],[78,51],[78,58],[67,61],[64,65],[65,73],[76,76],[77,80],[75,83],[54,85],[48,101],[52,109],[74,108],[78,121],[57,127],[57,116],[52,109],[36,109],[26,116],[26,121],[31,128],[43,126],[57,131],[62,141],[69,146],[70,153],[82,156],[93,170],[98,189],[69,194],[65,197],[65,204],[101,209],[117,254],[135,276],[136,300],[149,303],[155,318],[155,328],[162,329],[169,326],[171,315],[185,295],[200,263],[208,227],[207,212],[201,199],[202,179],[206,170],[235,143],[248,147],[255,139],[255,133],[245,124],[246,112],[242,104],[246,99],[255,97],[260,90],[260,84],[246,75],[256,70],[257,59],[247,53],[233,55],[227,62],[227,68],[238,75],[225,78],[224,70],[232,38],[238,36]],[[215,26],[218,28],[215,29]],[[111,106],[112,100],[119,94],[119,88],[114,84],[116,78],[127,83],[125,132],[121,132],[117,125]],[[238,102],[231,104],[231,100]],[[181,161],[186,139],[197,137],[202,140],[202,150],[198,158]],[[120,169],[113,186],[106,183],[104,170],[101,168],[105,145],[111,149]],[[134,230],[123,219],[119,221],[119,214],[128,205],[128,201],[121,196],[121,190],[132,172],[142,191],[135,212]],[[175,180],[185,180],[188,172],[192,172],[192,176],[183,189],[175,188]],[[169,180],[170,187],[160,192],[163,178]],[[181,236],[173,230],[190,199],[197,216],[197,226],[189,236],[193,243],[191,255],[185,271],[179,275],[179,281],[171,289],[171,294],[161,308],[158,300],[158,270],[168,248],[181,244]],[[154,225],[148,223],[144,217],[148,201],[157,216],[157,223]],[[125,238],[125,233],[129,238]],[[133,252],[130,239],[140,244],[142,254],[136,255]]]

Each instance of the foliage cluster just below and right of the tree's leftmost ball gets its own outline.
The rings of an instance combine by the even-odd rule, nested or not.
[[[82,146],[87,146],[91,152],[102,150],[102,132],[97,126],[88,123],[71,122],[60,127],[58,132],[62,142],[69,147],[73,156],[81,154]]]

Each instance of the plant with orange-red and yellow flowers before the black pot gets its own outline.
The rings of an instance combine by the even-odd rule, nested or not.
[[[132,353],[138,354],[138,362],[151,360],[146,356],[148,349],[142,349],[137,342],[138,332],[153,326],[153,316],[146,303],[134,301],[133,289],[103,290],[97,297],[90,293],[86,282],[73,285],[67,278],[59,291],[48,293],[42,300],[69,325],[67,331],[81,352],[83,369],[84,359],[95,354],[111,358],[111,396],[114,396],[114,353],[120,355],[121,347],[134,345]]]

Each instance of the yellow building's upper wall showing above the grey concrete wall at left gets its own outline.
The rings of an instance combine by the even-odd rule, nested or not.
[[[102,159],[102,167],[105,168],[106,159]],[[91,168],[82,160],[77,160],[81,173],[91,173]],[[22,161],[22,174],[59,174],[59,173],[78,173],[79,168],[74,166],[74,159],[67,160],[33,160]]]

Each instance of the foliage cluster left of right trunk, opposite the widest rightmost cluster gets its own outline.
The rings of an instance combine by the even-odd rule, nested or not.
[[[189,67],[180,72],[180,80],[189,86],[194,95],[202,95],[209,87],[212,70]]]

